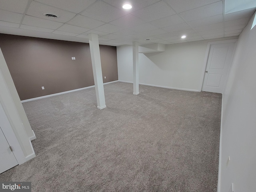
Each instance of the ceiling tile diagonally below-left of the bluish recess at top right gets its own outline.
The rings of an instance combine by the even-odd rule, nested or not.
[[[223,22],[223,14],[190,21],[188,22],[188,24],[191,27],[200,27],[200,26],[210,25],[210,24],[215,24],[220,22]]]

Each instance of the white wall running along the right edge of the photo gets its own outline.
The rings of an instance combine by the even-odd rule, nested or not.
[[[254,14],[255,15],[255,14]],[[239,36],[223,94],[220,190],[256,191],[256,27]],[[226,162],[230,156],[230,163]]]

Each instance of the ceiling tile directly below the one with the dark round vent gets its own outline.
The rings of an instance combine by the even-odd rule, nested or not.
[[[42,27],[42,28],[48,28],[48,29],[57,29],[60,26],[62,26],[63,23],[49,21],[46,19],[41,19],[41,18],[36,18],[36,17],[26,15],[24,17],[22,24],[36,26],[36,27]]]

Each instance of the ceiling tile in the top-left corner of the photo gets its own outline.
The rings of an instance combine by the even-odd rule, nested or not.
[[[27,4],[28,0],[1,0],[0,8],[2,10],[23,14]]]

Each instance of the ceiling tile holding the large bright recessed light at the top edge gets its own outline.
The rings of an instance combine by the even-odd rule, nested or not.
[[[108,4],[115,6],[116,8],[122,8],[122,6],[127,2],[125,0],[104,0]],[[134,12],[151,4],[154,4],[160,0],[129,0],[129,3],[132,5],[132,9],[126,10],[127,12]]]

